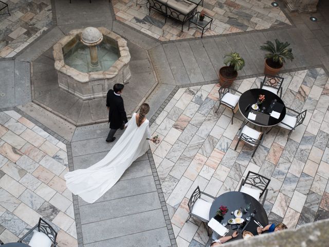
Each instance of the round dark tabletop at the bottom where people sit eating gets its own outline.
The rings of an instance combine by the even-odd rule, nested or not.
[[[232,233],[234,231],[236,231],[236,229],[235,230],[232,229],[232,226],[234,226],[233,224],[232,225],[228,224],[229,219],[235,218],[234,214],[232,215],[231,212],[232,211],[234,212],[235,210],[240,209],[241,207],[242,207],[242,211],[243,211],[245,206],[249,203],[250,203],[249,211],[246,214],[243,213],[243,215],[242,215],[242,218],[246,222],[246,225],[243,228],[243,231],[249,231],[254,236],[256,236],[258,234],[257,233],[258,225],[254,222],[254,220],[260,222],[261,225],[265,227],[268,224],[268,218],[267,218],[266,211],[265,211],[264,207],[262,206],[262,204],[246,193],[243,193],[240,191],[230,191],[230,192],[226,192],[226,193],[222,194],[221,196],[217,197],[211,205],[211,208],[209,211],[209,219],[214,218],[221,224],[227,223],[226,227],[228,228],[229,233],[226,236],[230,236],[230,235],[232,235]],[[226,215],[224,217],[216,216],[216,211],[222,205],[226,206],[228,208],[228,212],[226,213]],[[246,217],[248,215],[250,215],[254,209],[256,210],[254,217],[252,217],[249,221],[247,221]],[[239,226],[239,225],[237,225],[237,226]],[[233,238],[233,240],[242,239],[242,238],[243,237],[242,237],[242,232],[241,232],[236,238]]]

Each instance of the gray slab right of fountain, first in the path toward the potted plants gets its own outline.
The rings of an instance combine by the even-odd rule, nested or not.
[[[174,76],[171,72],[169,62],[167,60],[165,50],[162,46],[157,46],[149,50],[149,55],[155,70],[159,83],[175,85]]]

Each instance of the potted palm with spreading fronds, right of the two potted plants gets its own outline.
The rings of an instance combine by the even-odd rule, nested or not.
[[[276,75],[285,63],[285,59],[293,61],[294,55],[291,52],[293,49],[288,48],[290,45],[288,42],[280,42],[275,39],[276,44],[271,41],[266,41],[265,45],[261,46],[261,50],[265,50],[269,53],[265,54],[265,68],[264,74]]]

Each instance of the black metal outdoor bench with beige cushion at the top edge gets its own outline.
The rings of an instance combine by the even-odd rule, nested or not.
[[[149,2],[149,14],[151,9],[160,12],[167,17],[175,19],[181,22],[181,31],[183,25],[196,13],[197,4],[194,4],[188,0],[148,0]]]

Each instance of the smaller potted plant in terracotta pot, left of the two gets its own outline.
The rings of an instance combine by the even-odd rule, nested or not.
[[[226,66],[220,68],[220,84],[223,86],[225,83],[231,85],[237,77],[237,72],[245,66],[245,60],[240,57],[237,52],[231,52],[225,55],[224,64]]]

